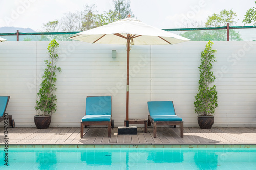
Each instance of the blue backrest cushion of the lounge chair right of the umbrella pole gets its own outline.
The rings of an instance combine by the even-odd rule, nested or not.
[[[175,115],[172,101],[150,101],[147,102],[150,116],[154,115]]]

